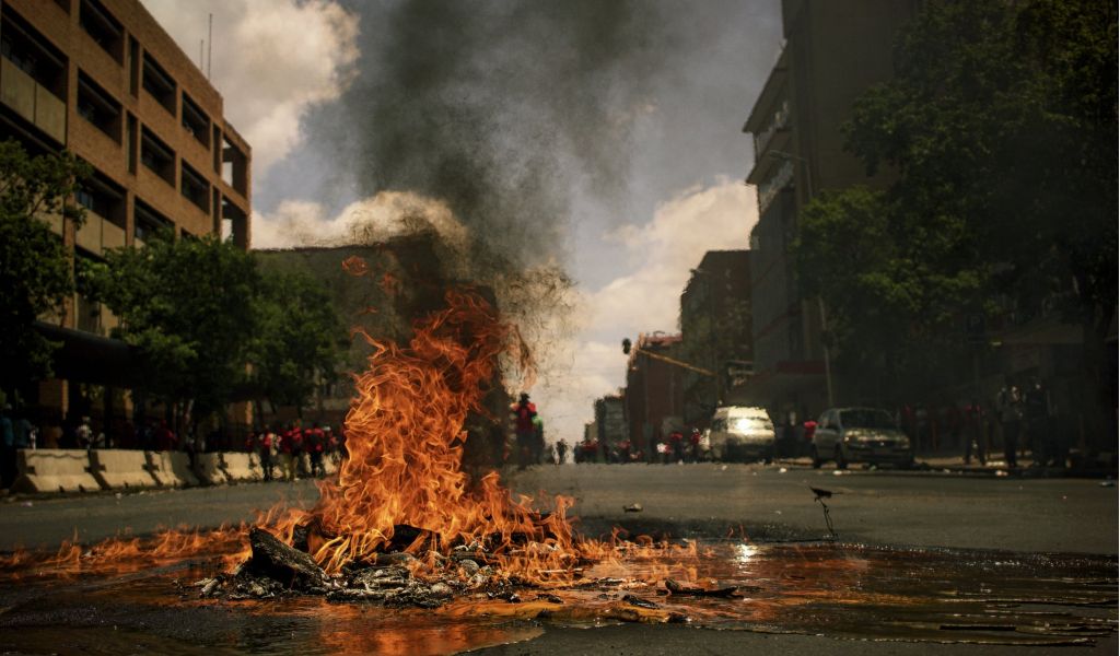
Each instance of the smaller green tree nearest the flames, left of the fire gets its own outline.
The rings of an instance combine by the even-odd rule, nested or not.
[[[251,344],[252,378],[273,409],[302,409],[317,384],[336,376],[346,332],[326,287],[309,274],[263,275],[255,298],[258,330]]]

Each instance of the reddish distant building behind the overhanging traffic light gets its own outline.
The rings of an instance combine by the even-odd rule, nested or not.
[[[626,419],[634,449],[656,456],[654,446],[681,428],[684,414],[684,368],[656,356],[680,359],[681,336],[640,335],[626,371]]]

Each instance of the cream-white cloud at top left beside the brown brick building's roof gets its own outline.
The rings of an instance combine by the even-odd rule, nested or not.
[[[142,1],[193,60],[214,15],[213,83],[253,148],[254,177],[299,143],[304,113],[352,78],[357,17],[333,0]]]

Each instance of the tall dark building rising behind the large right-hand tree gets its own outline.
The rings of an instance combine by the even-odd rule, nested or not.
[[[783,0],[784,45],[743,128],[758,188],[750,263],[755,375],[746,401],[805,416],[844,400],[822,343],[827,303],[797,290],[788,252],[797,214],[824,189],[877,186],[843,149],[856,99],[893,73],[896,34],[920,0]],[[855,400],[852,400],[855,401]]]

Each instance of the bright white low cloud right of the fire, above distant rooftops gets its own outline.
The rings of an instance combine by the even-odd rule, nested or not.
[[[586,322],[561,357],[552,358],[534,399],[549,440],[582,439],[592,402],[626,379],[622,339],[638,332],[676,331],[680,294],[689,270],[707,251],[746,249],[757,221],[754,187],[719,180],[687,189],[659,206],[645,225],[626,225],[604,235],[617,243],[619,263],[631,272],[585,293]]]

